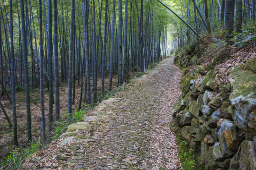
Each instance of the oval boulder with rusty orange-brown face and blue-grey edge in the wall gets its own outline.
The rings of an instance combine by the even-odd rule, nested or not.
[[[225,120],[218,132],[221,153],[229,158],[239,147],[238,127],[233,121]]]

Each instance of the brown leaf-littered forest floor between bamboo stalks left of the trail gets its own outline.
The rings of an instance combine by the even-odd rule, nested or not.
[[[134,77],[136,75],[136,71],[130,71],[129,77]],[[80,80],[81,81],[81,80]],[[83,78],[84,81],[84,78]],[[92,79],[91,79],[92,82]],[[113,90],[117,88],[118,75],[116,73],[113,74]],[[67,113],[67,103],[68,103],[68,83],[64,82],[60,84],[60,117],[61,120],[68,119]],[[101,77],[98,77],[97,80],[98,87],[98,96],[100,96],[101,92]],[[109,87],[109,75],[107,74],[105,77],[105,89]],[[83,82],[84,88],[84,82]],[[92,88],[92,87],[91,87]],[[73,104],[73,110],[78,109],[79,99],[80,99],[80,91],[81,85],[78,85],[76,80],[75,83],[75,102]],[[83,91],[84,92],[84,91]],[[11,93],[9,93],[11,97]],[[54,94],[55,96],[55,94]],[[91,97],[93,96],[93,91],[91,91]],[[55,99],[55,98],[54,98]],[[9,116],[9,119],[12,122],[12,103],[9,102],[6,95],[1,96],[0,100],[3,103],[3,106]],[[48,134],[48,113],[49,113],[49,91],[45,87],[44,89],[44,102],[45,102],[45,115],[46,115],[46,132],[48,141],[51,140],[51,137],[54,136],[55,125],[53,125],[53,131],[51,134]],[[82,101],[82,109],[87,107],[87,101]],[[40,144],[42,143],[42,123],[41,123],[41,103],[40,103],[40,88],[30,88],[30,107],[31,107],[31,120],[32,120],[32,143]],[[18,146],[13,144],[13,129],[9,127],[7,119],[5,118],[2,110],[0,109],[0,163],[7,159],[7,156],[13,150],[22,150],[27,148],[27,117],[26,117],[26,95],[25,89],[17,89],[16,90],[16,110],[17,110],[17,122],[18,122]],[[53,114],[55,116],[55,106],[53,108]]]

